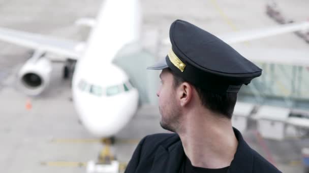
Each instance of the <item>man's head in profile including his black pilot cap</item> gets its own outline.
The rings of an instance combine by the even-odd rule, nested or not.
[[[249,84],[262,70],[189,22],[176,20],[169,35],[172,49],[165,59],[147,68],[162,70],[157,93],[162,126],[176,131],[183,111],[197,106],[231,118],[241,85]]]

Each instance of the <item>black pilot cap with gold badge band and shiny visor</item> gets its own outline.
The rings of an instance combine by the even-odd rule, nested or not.
[[[242,84],[262,74],[262,69],[224,41],[189,22],[174,21],[170,41],[172,49],[166,58],[147,69],[170,68],[184,80],[215,93],[237,93]]]

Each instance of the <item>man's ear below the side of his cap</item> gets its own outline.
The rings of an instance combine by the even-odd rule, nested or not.
[[[177,97],[180,101],[180,106],[186,106],[192,99],[193,88],[188,82],[182,82],[177,89]]]

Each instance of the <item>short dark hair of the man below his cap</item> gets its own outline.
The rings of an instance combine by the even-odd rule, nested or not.
[[[182,82],[188,82],[182,77],[175,75],[171,70],[169,70],[174,76],[173,85],[176,88]],[[192,84],[191,82],[189,82]],[[192,84],[199,94],[201,103],[207,109],[222,114],[224,117],[231,118],[234,107],[237,100],[237,93],[214,93],[211,91],[203,90],[199,86]]]

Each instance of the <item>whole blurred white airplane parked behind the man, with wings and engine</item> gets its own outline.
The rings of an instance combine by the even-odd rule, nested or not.
[[[72,94],[80,120],[91,134],[111,137],[128,123],[138,107],[137,89],[126,72],[112,60],[123,47],[136,51],[141,26],[140,4],[138,0],[105,0],[96,20],[82,19],[77,23],[92,27],[86,42],[6,28],[0,28],[0,40],[36,50],[18,73],[22,92],[30,96],[41,94],[49,84],[52,59],[45,53],[70,57],[63,58],[64,61],[77,61]],[[306,28],[309,22],[219,37],[232,43]]]

